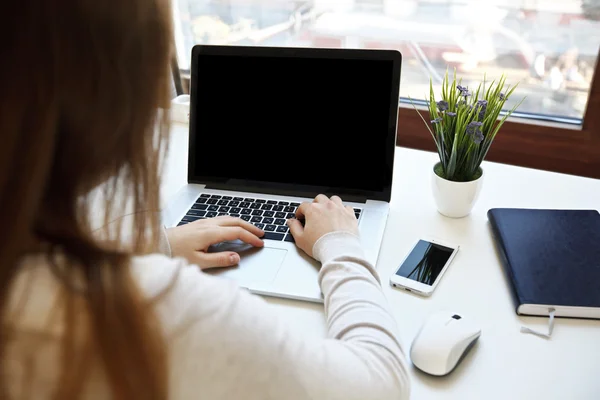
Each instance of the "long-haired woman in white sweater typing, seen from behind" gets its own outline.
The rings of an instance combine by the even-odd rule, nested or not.
[[[159,207],[167,1],[9,4],[0,46],[1,398],[407,398],[396,323],[338,197],[317,196],[299,208],[304,226],[289,223],[322,263],[325,340],[298,335],[260,297],[201,271],[239,260],[207,253],[212,243],[263,245],[263,232],[244,221],[165,235],[157,213],[140,212],[131,242],[93,233],[89,216],[99,211],[108,222],[125,203]],[[97,187],[105,210],[90,209]]]

